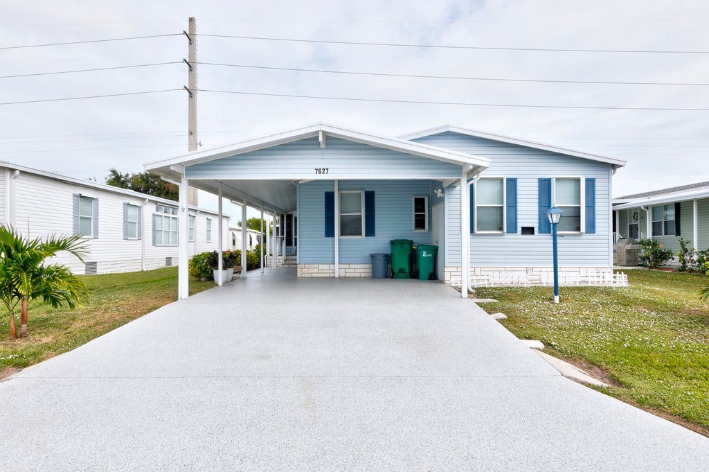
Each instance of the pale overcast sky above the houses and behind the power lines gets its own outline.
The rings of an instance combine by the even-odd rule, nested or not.
[[[608,53],[338,45],[200,36],[200,62],[403,75],[709,84],[706,1],[4,0],[0,48],[198,33],[367,43],[705,53]],[[608,5],[608,8],[604,6]],[[0,75],[179,62],[181,35],[0,49]],[[184,64],[0,78],[0,102],[182,89]],[[709,85],[380,77],[214,65],[199,88],[477,104],[396,104],[199,94],[202,148],[325,121],[395,136],[455,124],[627,160],[614,196],[709,180]],[[0,105],[0,160],[104,181],[186,151],[186,92]],[[201,206],[213,199],[201,197]],[[233,208],[228,212],[235,214]]]

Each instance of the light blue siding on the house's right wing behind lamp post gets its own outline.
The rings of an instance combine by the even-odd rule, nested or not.
[[[471,266],[551,266],[551,235],[539,234],[538,179],[564,176],[596,179],[596,234],[560,238],[559,264],[567,267],[610,266],[610,164],[451,132],[415,141],[490,158],[491,165],[483,175],[518,179],[518,227],[533,226],[535,234],[472,234]],[[445,264],[449,266],[460,265],[461,260],[459,199],[459,187],[448,187]]]

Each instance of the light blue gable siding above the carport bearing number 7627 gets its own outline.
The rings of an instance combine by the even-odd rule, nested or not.
[[[251,153],[190,165],[190,178],[313,179],[316,168],[328,169],[328,179],[372,177],[449,178],[461,173],[461,166],[417,155],[377,148],[344,139],[327,139],[320,148],[318,138],[306,138]]]

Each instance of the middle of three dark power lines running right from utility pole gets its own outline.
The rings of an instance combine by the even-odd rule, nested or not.
[[[490,80],[496,82],[548,82],[553,84],[614,84],[614,85],[709,85],[709,83],[681,83],[681,82],[605,82],[600,80],[547,80],[547,79],[506,79],[500,77],[460,77],[452,75],[415,75],[415,74],[393,74],[386,72],[355,72],[347,70],[328,69],[303,69],[300,67],[269,67],[264,65],[246,64],[222,64],[219,62],[197,62],[199,65],[216,65],[223,67],[242,67],[245,69],[266,69],[266,70],[289,70],[293,72],[323,72],[328,74],[345,75],[374,75],[378,77],[413,77],[420,79],[454,79],[454,80]],[[1,79],[2,77],[0,77]]]

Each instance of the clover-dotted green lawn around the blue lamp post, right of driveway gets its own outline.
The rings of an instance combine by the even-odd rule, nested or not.
[[[479,288],[481,305],[503,312],[521,339],[539,339],[554,356],[600,367],[619,386],[608,395],[709,435],[709,278],[654,270],[628,271],[630,287]],[[593,366],[591,366],[591,364]],[[687,424],[687,422],[689,424]]]

